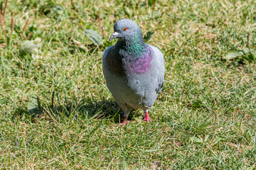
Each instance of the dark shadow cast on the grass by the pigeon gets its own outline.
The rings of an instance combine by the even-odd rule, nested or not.
[[[50,118],[58,120],[59,118],[93,118],[105,119],[114,123],[122,122],[124,113],[121,108],[114,102],[114,100],[106,100],[102,98],[101,101],[95,101],[91,98],[82,98],[81,100],[65,100],[63,105],[41,106],[41,108],[33,108],[33,111],[26,111],[18,108],[14,113],[14,117],[28,120],[35,120],[35,118]],[[132,111],[131,111],[132,113]],[[128,120],[132,120],[134,114],[129,114]]]

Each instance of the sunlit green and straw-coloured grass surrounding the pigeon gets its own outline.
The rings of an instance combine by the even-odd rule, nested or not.
[[[255,169],[255,6],[9,1],[0,34],[0,168]],[[153,31],[148,43],[164,53],[164,89],[149,111],[154,123],[133,111],[120,126],[122,111],[105,84],[102,52],[121,18]],[[104,35],[99,46],[86,29]],[[22,42],[36,38],[42,47],[22,54]],[[227,59],[248,46],[251,52]],[[31,96],[41,103],[36,115],[28,111]]]

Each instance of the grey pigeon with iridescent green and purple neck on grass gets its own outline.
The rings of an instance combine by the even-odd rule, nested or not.
[[[110,41],[102,58],[103,74],[114,100],[124,112],[122,125],[127,124],[131,109],[144,110],[146,122],[149,108],[153,106],[164,85],[164,55],[157,48],[144,42],[137,23],[122,19],[114,23]]]

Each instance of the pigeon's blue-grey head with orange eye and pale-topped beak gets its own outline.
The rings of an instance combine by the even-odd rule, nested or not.
[[[142,30],[139,28],[137,23],[129,19],[122,19],[114,23],[114,33],[110,37],[110,41],[114,38],[119,40],[132,40],[134,37],[142,38]]]

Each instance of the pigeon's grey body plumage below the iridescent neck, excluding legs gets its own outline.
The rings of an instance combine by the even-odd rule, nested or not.
[[[164,84],[164,55],[162,52],[149,45],[152,52],[151,67],[142,74],[120,76],[110,72],[107,63],[108,52],[114,45],[105,50],[102,60],[103,73],[114,100],[124,114],[128,114],[131,108],[149,109],[156,101]]]

